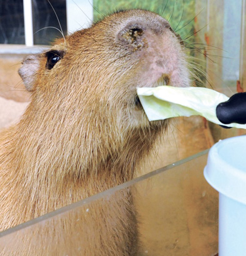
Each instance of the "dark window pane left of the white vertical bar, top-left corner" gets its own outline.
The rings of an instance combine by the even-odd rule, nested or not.
[[[0,44],[24,44],[23,3],[0,0]]]

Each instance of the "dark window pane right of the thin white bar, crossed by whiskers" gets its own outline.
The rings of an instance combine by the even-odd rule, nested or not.
[[[51,44],[54,39],[61,38],[59,22],[62,32],[67,34],[66,0],[51,1],[51,4],[47,0],[32,0],[34,44]]]

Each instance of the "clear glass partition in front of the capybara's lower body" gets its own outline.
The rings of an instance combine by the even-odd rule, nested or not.
[[[6,230],[0,255],[128,255],[137,227],[137,255],[215,255],[218,195],[206,162],[207,151]]]

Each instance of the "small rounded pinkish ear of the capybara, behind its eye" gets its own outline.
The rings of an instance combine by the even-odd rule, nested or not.
[[[23,59],[21,68],[19,68],[19,75],[21,76],[27,91],[34,90],[34,82],[39,69],[39,60],[39,54],[29,55]]]

